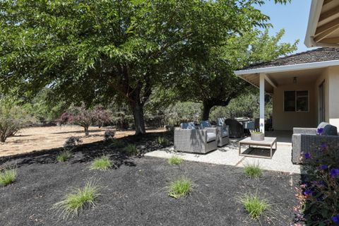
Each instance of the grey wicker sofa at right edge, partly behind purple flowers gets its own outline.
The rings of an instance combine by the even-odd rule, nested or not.
[[[329,128],[330,131],[326,131]],[[319,135],[319,129],[325,131]],[[321,152],[314,151],[321,144],[326,143],[331,146],[339,145],[339,136],[335,126],[322,122],[318,128],[294,128],[292,135],[292,163],[303,164],[302,153],[311,152],[313,159],[320,159]]]

